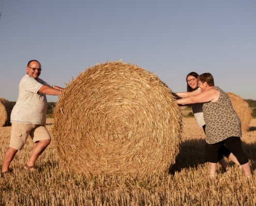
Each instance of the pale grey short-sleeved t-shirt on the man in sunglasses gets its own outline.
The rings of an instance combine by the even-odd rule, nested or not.
[[[45,94],[38,92],[43,86],[54,88],[42,79],[34,79],[25,75],[19,85],[19,96],[16,105],[11,111],[11,122],[22,124],[46,124],[47,98]]]

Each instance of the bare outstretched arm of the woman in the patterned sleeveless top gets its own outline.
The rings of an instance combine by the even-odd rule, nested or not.
[[[202,92],[201,94],[195,96],[189,96],[186,98],[176,100],[178,105],[190,105],[190,104],[197,104],[197,103],[204,103],[208,101],[215,102],[219,98],[219,91],[215,89],[210,89]]]

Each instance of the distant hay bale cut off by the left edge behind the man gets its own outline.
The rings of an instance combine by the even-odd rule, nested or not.
[[[11,110],[13,105],[10,101],[0,98],[0,127],[11,125]]]

